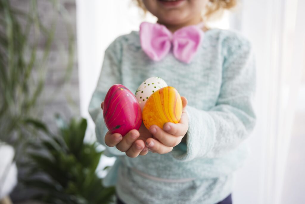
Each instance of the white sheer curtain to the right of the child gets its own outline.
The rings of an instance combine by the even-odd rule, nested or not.
[[[303,0],[243,1],[232,19],[252,41],[257,60],[258,120],[248,141],[251,157],[237,174],[237,203],[278,204],[285,193],[284,173],[304,69],[304,8]]]

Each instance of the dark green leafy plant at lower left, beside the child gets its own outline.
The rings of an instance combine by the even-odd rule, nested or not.
[[[84,143],[87,121],[72,119],[66,124],[57,117],[59,135],[49,134],[41,145],[33,143],[37,151],[30,153],[33,164],[30,177],[40,173],[47,178],[24,181],[41,193],[36,199],[54,204],[106,204],[113,202],[114,187],[103,187],[96,174],[102,151],[97,144]],[[45,154],[41,154],[46,150]]]

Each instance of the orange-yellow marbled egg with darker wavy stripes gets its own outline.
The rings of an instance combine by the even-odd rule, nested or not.
[[[174,87],[164,87],[155,91],[143,108],[143,123],[147,129],[151,125],[163,128],[167,122],[179,123],[182,115],[182,100]]]

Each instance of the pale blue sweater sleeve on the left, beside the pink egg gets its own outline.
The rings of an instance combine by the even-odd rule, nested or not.
[[[116,39],[105,51],[100,77],[89,104],[89,113],[95,123],[97,141],[106,147],[104,154],[108,157],[125,154],[117,150],[116,147],[108,147],[105,144],[105,135],[108,129],[105,125],[101,109],[101,103],[104,101],[109,88],[113,84],[121,83],[120,64],[121,44],[119,39]]]

